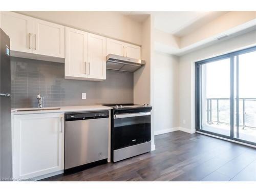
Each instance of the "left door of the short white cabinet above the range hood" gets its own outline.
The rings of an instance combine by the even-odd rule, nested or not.
[[[124,48],[125,48],[124,42],[106,38],[106,55],[114,54],[114,55],[125,56]]]

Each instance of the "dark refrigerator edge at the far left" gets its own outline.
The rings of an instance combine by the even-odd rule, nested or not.
[[[12,177],[10,38],[0,29],[0,178]]]

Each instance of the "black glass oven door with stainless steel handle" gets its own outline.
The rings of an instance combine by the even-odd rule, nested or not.
[[[114,150],[151,141],[151,112],[114,115]]]

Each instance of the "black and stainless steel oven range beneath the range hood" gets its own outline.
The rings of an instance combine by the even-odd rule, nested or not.
[[[151,110],[148,105],[115,105],[112,110],[113,162],[151,151]]]

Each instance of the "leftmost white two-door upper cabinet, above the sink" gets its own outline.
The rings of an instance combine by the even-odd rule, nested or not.
[[[14,12],[1,12],[1,27],[10,37],[12,56],[22,57],[20,52],[23,52],[65,58],[64,26]]]

